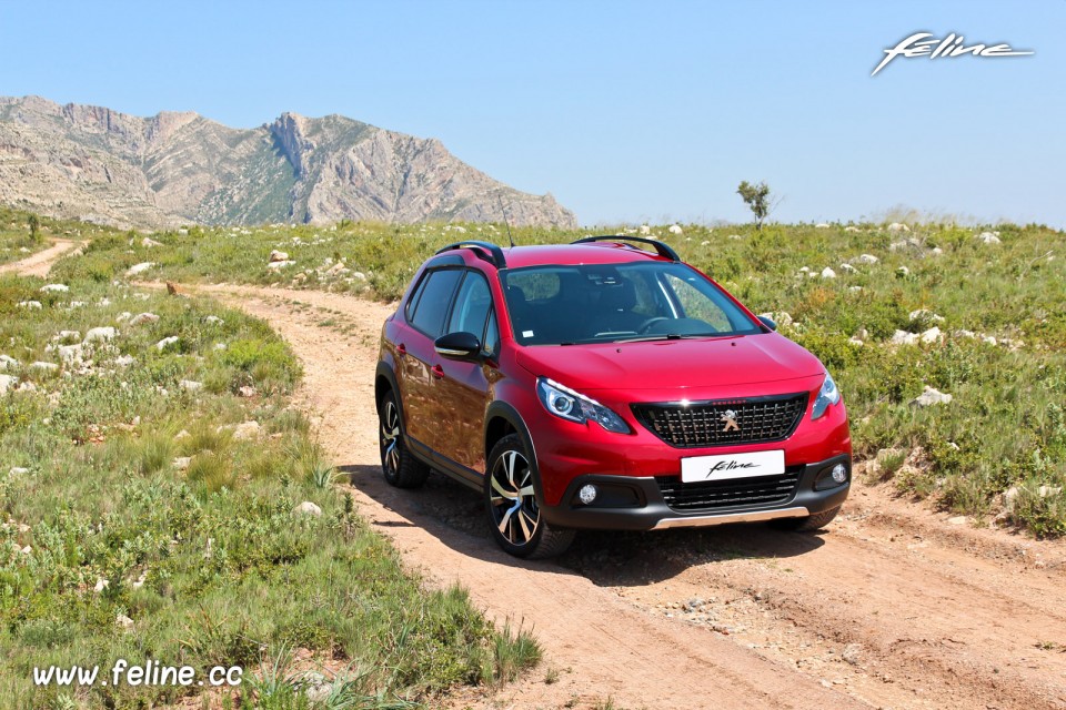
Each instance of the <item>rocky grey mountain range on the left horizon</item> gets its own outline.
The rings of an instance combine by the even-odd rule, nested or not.
[[[551,194],[519,192],[435,139],[341,115],[283,113],[231,129],[39,97],[0,98],[0,204],[117,226],[501,221],[574,226]]]

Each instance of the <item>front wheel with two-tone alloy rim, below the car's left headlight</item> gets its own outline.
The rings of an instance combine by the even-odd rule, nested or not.
[[[561,555],[576,535],[550,526],[541,516],[533,487],[536,474],[517,434],[509,434],[492,447],[485,471],[485,513],[500,547],[525,559]]]

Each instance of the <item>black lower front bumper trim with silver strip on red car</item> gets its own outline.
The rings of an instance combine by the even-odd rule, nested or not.
[[[824,480],[826,471],[836,464],[845,465],[847,480],[816,490],[815,483]],[[851,483],[852,457],[843,454],[803,466],[795,488],[786,499],[770,505],[680,509],[667,505],[658,480],[653,477],[589,474],[574,478],[560,504],[542,506],[541,515],[555,527],[597,530],[655,530],[800,518],[841,506],[847,498]],[[593,484],[600,490],[591,505],[584,505],[577,498],[577,491],[586,484]]]

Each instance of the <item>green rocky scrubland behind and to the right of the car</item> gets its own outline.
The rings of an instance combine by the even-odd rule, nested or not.
[[[512,231],[519,244],[591,233]],[[868,476],[978,524],[1066,534],[1066,234],[947,223],[623,231],[666,241],[817,354],[845,394]],[[95,240],[57,273],[107,283],[149,263],[135,277],[391,301],[425,257],[464,239],[507,237],[493,224],[192,227],[152,246]],[[926,387],[952,400],[912,404]]]

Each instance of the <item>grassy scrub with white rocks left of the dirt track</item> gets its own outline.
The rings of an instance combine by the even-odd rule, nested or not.
[[[117,263],[122,239],[101,242]],[[264,323],[73,277],[80,264],[0,276],[3,707],[201,691],[33,684],[34,668],[107,673],[119,658],[201,679],[242,666],[214,698],[231,708],[432,704],[539,660],[529,633],[495,629],[461,589],[429,591],[330,485],[340,476],[290,402],[299,363]]]

